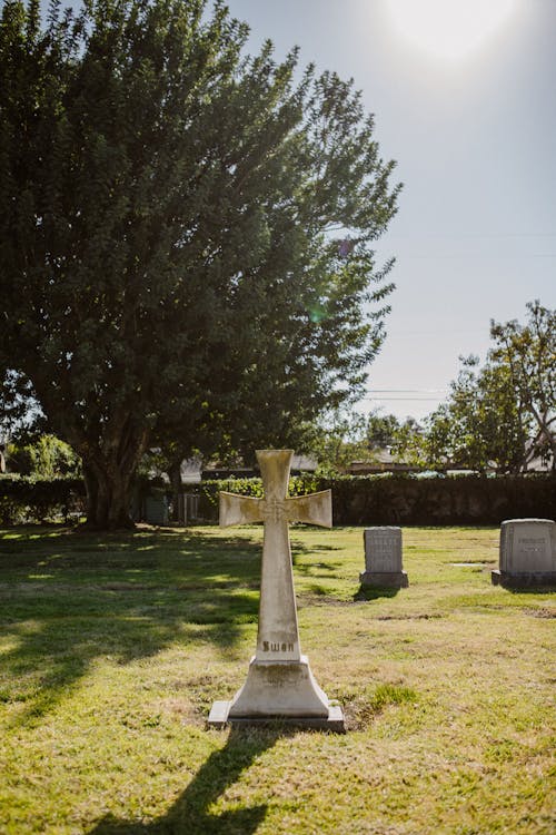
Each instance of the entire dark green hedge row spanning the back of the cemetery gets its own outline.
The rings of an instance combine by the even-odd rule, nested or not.
[[[346,475],[290,479],[290,495],[332,490],[335,524],[499,524],[505,519],[556,520],[556,478],[520,475],[481,478],[415,478],[408,475]],[[140,485],[140,493],[156,491]],[[158,484],[158,491],[160,485]],[[262,495],[260,479],[227,479],[188,485],[199,495],[199,518],[218,520],[218,493]],[[168,493],[170,498],[170,494]],[[0,525],[68,520],[85,511],[81,479],[0,477]]]

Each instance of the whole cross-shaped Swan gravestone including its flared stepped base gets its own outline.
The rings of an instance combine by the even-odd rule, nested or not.
[[[259,450],[264,499],[220,493],[220,527],[265,523],[257,648],[231,701],[215,701],[208,724],[224,727],[271,718],[344,730],[344,714],[316,682],[301,655],[288,522],[331,528],[331,491],[288,498],[292,450]]]

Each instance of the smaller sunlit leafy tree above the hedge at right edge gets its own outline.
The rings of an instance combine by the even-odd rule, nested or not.
[[[406,455],[434,469],[519,473],[552,451],[554,469],[555,314],[538,302],[527,310],[526,325],[492,323],[483,367],[476,356],[461,358],[449,397],[406,439]]]

